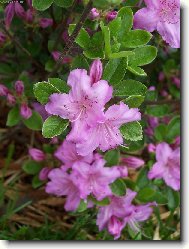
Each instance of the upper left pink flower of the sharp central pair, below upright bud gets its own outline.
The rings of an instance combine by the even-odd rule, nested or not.
[[[83,130],[102,119],[104,105],[112,96],[112,87],[105,80],[92,85],[84,69],[73,70],[68,85],[71,87],[69,94],[52,94],[45,108],[48,113],[72,122],[67,139],[76,142],[82,139]]]

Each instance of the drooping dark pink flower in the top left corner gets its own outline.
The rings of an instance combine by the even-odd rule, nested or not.
[[[15,14],[18,17],[25,19],[25,10],[18,1],[9,3],[5,8],[5,25],[7,28],[10,27],[10,24]]]

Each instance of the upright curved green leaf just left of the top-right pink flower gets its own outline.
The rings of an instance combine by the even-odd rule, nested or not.
[[[128,7],[123,7],[119,10],[117,17],[121,17],[121,28],[119,30],[119,39],[122,40],[127,32],[133,26],[133,12]]]

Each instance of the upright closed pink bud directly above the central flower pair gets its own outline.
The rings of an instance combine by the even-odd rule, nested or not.
[[[98,82],[101,79],[102,72],[103,72],[102,62],[99,59],[94,60],[90,68],[90,78],[92,84]]]

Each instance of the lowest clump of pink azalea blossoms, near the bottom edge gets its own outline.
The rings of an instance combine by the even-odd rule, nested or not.
[[[141,230],[140,222],[149,219],[153,211],[152,206],[155,206],[156,203],[133,205],[132,201],[136,194],[136,192],[127,189],[127,194],[123,197],[110,197],[110,204],[99,208],[97,215],[99,230],[107,228],[114,239],[118,239],[121,236],[121,231],[128,224],[133,232],[138,233]]]

